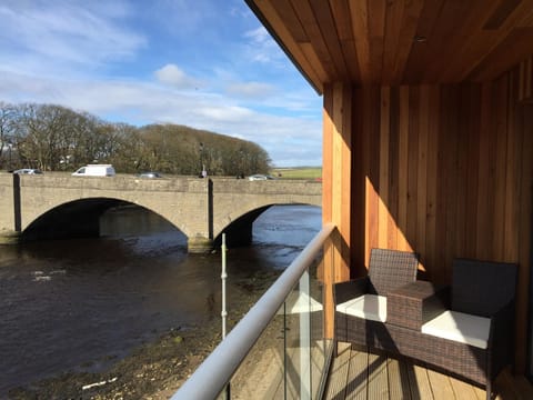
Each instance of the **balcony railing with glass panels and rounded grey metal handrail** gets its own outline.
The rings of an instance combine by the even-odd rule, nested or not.
[[[325,224],[172,399],[319,399],[332,354],[324,339]]]

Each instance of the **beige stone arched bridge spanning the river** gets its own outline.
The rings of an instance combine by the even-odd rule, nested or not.
[[[97,237],[100,216],[125,204],[158,213],[188,237],[190,252],[204,252],[222,232],[227,232],[229,246],[249,243],[252,222],[270,206],[322,206],[322,184],[303,180],[0,173],[0,243]]]

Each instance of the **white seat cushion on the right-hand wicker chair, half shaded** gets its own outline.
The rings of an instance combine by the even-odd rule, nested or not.
[[[444,311],[422,326],[422,333],[474,346],[480,349],[486,349],[490,330],[490,318],[451,310]]]

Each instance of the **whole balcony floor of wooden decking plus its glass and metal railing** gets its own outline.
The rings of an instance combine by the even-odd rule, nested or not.
[[[323,227],[172,399],[485,398],[484,389],[402,357],[349,343],[338,343],[333,357],[323,281],[336,232]],[[533,398],[529,381],[509,369],[494,392],[500,400]]]

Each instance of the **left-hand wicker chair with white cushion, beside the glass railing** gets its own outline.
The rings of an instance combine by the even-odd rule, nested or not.
[[[418,256],[413,252],[372,249],[366,277],[333,287],[335,340],[393,349],[394,343],[383,326],[386,321],[386,296],[414,282],[418,264]]]

